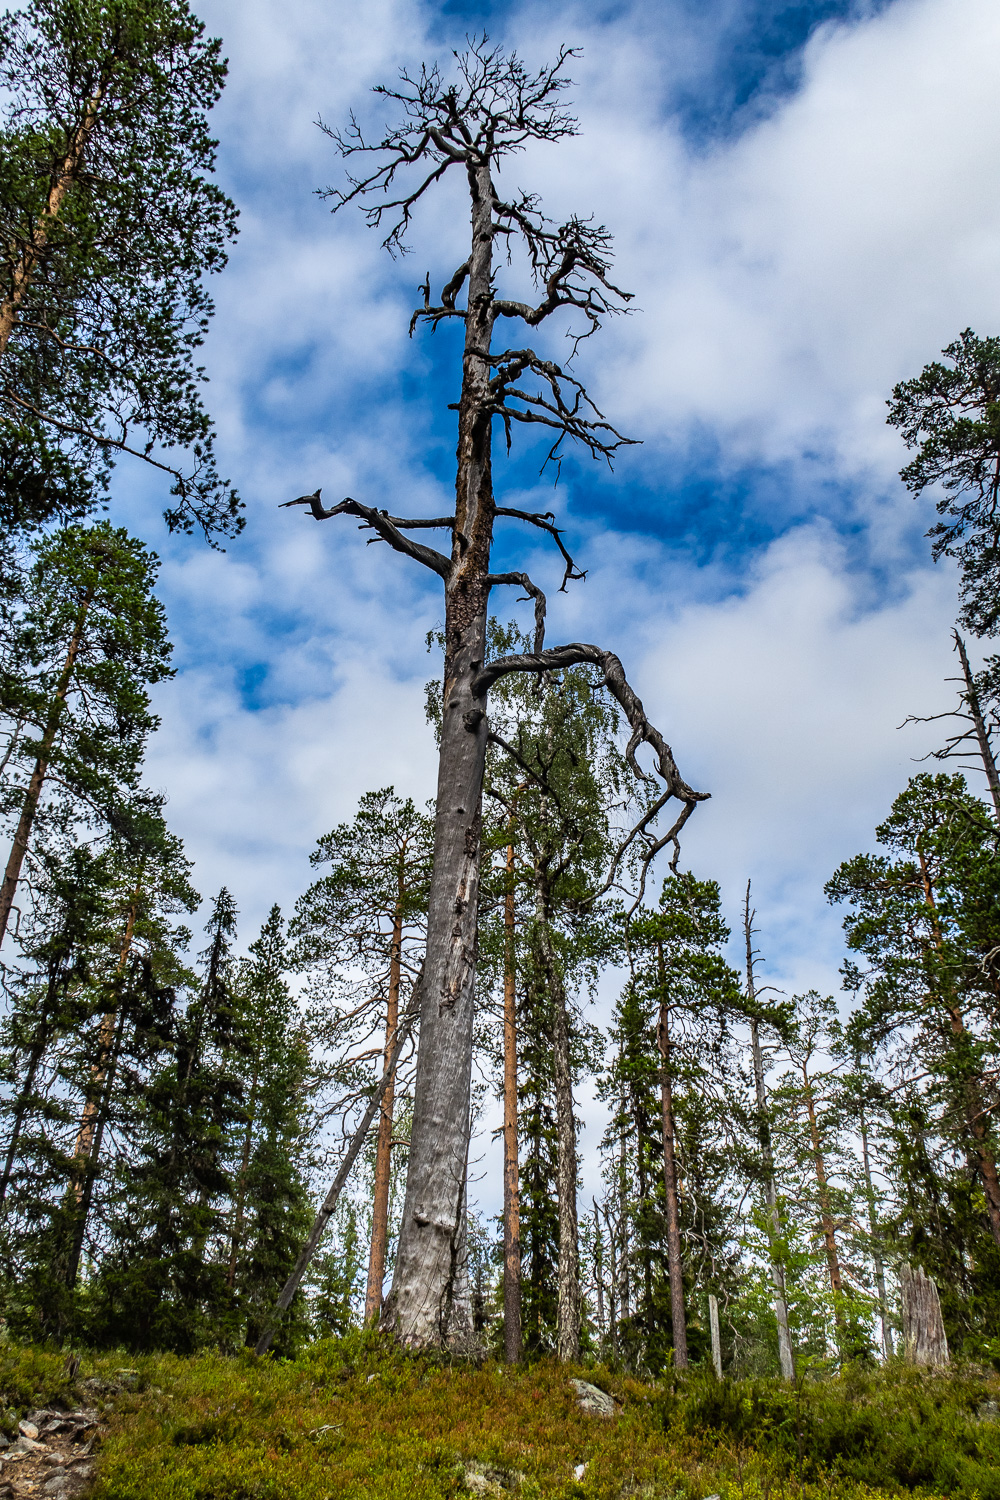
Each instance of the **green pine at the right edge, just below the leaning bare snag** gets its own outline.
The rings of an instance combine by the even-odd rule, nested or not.
[[[919,1072],[943,1131],[967,1154],[1000,1246],[993,1126],[1000,884],[996,824],[960,776],[918,776],[876,830],[886,854],[858,855],[828,885],[846,902],[846,984],[861,1006],[849,1035],[897,1086]]]

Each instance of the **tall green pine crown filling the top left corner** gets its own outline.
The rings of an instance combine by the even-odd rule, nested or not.
[[[195,366],[235,232],[210,180],[223,80],[184,0],[28,0],[0,22],[4,526],[79,516],[118,453],[171,478],[171,526],[241,525]]]

